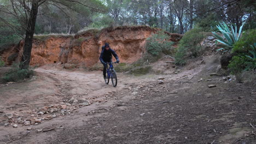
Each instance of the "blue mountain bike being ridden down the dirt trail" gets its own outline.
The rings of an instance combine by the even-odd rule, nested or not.
[[[113,63],[117,63],[117,62],[107,63],[107,69],[106,69],[107,77],[106,77],[106,79],[104,79],[104,81],[106,82],[106,84],[108,84],[109,79],[111,79],[113,86],[116,87],[117,86],[117,73],[115,73]],[[109,67],[108,67],[108,64],[109,64]]]

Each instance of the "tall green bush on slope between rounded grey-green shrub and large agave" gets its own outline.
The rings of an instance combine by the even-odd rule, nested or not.
[[[177,65],[184,65],[186,63],[185,56],[189,53],[193,57],[200,56],[203,52],[201,41],[205,38],[200,28],[194,28],[184,34],[181,41],[179,41],[178,49],[175,53],[175,63]]]

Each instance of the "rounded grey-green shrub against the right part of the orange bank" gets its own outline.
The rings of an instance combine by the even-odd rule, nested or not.
[[[170,55],[173,50],[173,42],[168,41],[170,37],[163,31],[153,34],[146,40],[146,49],[153,56],[159,56],[161,52]]]

